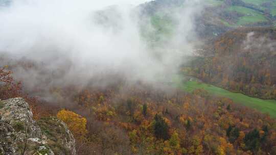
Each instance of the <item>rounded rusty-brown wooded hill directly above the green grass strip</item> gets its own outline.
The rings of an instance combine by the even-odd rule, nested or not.
[[[205,57],[187,71],[205,82],[250,96],[276,98],[276,31],[243,28],[227,32],[206,47]]]

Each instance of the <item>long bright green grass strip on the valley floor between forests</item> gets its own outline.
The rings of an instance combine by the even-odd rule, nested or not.
[[[276,118],[276,100],[265,100],[249,97],[240,93],[233,93],[213,85],[199,83],[196,81],[180,82],[179,79],[174,79],[173,81],[175,86],[180,87],[185,91],[193,92],[193,90],[195,89],[204,89],[208,91],[211,95],[231,98],[237,104],[241,104],[250,108],[255,108],[262,113],[268,113],[271,117]]]

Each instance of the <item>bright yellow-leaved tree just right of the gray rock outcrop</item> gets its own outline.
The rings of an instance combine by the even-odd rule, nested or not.
[[[57,117],[67,124],[76,139],[84,138],[87,134],[86,118],[68,110],[60,110]]]

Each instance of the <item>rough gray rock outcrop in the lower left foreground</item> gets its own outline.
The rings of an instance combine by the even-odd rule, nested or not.
[[[36,122],[22,98],[0,100],[0,155],[76,154],[75,139],[57,118]]]

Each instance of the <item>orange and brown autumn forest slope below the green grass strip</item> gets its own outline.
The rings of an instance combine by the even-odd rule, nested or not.
[[[204,90],[187,94],[125,81],[104,89],[52,87],[48,93],[63,103],[59,107],[28,97],[7,68],[1,70],[1,82],[1,99],[25,97],[38,121],[56,115],[67,123],[78,154],[276,153],[274,119]]]

